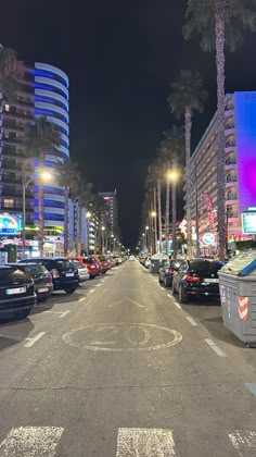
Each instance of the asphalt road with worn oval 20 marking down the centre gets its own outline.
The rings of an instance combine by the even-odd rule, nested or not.
[[[255,457],[256,350],[127,262],[0,325],[0,457]]]

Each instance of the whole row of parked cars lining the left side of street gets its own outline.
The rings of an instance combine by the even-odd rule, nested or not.
[[[25,319],[37,301],[53,291],[73,294],[79,284],[105,274],[120,264],[120,258],[105,256],[25,259],[0,265],[0,318]]]

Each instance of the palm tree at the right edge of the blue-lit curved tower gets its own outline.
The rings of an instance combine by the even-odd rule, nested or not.
[[[69,205],[68,199],[73,189],[76,187],[77,175],[79,173],[78,165],[72,159],[65,160],[57,168],[59,183],[64,188],[64,255],[68,255],[69,249]]]

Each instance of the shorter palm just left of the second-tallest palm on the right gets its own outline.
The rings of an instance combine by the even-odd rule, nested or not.
[[[168,147],[171,158],[171,169],[178,172],[180,166],[183,166],[184,158],[184,140],[183,129],[177,125],[172,125],[171,128],[165,133],[168,140]],[[177,237],[176,237],[176,225],[177,225],[177,210],[176,210],[176,181],[172,181],[171,185],[171,210],[172,210],[172,250],[174,258],[177,257]]]

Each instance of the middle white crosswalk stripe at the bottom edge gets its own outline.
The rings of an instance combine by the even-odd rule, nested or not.
[[[171,430],[118,429],[116,457],[174,457]]]

